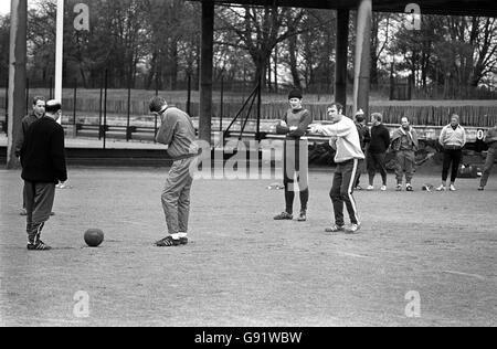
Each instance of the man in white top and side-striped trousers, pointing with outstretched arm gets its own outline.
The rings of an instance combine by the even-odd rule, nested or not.
[[[342,115],[343,107],[335,103],[328,107],[328,115],[331,117],[332,125],[310,125],[311,134],[330,136],[330,146],[337,150],[335,162],[334,186],[330,198],[335,210],[335,225],[326,231],[329,233],[347,232],[357,233],[361,223],[353,199],[353,187],[359,176],[358,169],[361,161],[364,161],[364,154],[361,149],[359,133],[353,120]],[[351,225],[345,228],[343,204],[350,215]]]

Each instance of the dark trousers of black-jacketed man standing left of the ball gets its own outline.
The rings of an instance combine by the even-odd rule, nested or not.
[[[24,200],[28,240],[33,244],[41,239],[43,226],[50,219],[55,200],[55,184],[24,181]]]

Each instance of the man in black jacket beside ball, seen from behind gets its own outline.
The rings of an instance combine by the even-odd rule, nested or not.
[[[60,102],[46,103],[45,116],[29,127],[20,152],[30,251],[51,250],[41,233],[52,212],[55,186],[67,180],[64,129],[57,124],[61,109]]]

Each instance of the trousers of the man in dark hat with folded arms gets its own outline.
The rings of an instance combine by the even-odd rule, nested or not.
[[[286,212],[293,214],[296,191],[300,195],[300,211],[305,212],[309,202],[309,157],[307,140],[287,140],[285,142],[284,158],[285,169],[283,183],[285,186]]]

